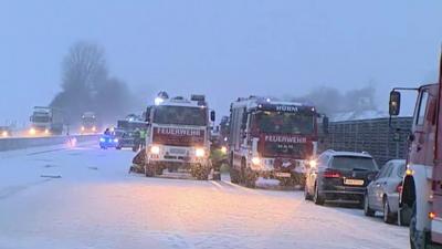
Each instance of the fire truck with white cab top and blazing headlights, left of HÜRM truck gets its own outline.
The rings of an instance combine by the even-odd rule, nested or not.
[[[214,112],[203,95],[169,98],[162,92],[147,111],[150,123],[146,139],[146,176],[169,172],[189,172],[208,179],[211,172],[210,131]]]

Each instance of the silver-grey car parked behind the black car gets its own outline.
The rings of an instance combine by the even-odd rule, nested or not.
[[[387,162],[375,179],[368,185],[364,197],[364,214],[375,216],[376,211],[383,212],[383,221],[398,221],[399,194],[402,190],[402,179],[407,164],[403,159]]]

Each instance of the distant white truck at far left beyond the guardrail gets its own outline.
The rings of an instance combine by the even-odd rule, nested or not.
[[[29,135],[61,135],[65,126],[63,111],[55,107],[35,106],[30,121]]]

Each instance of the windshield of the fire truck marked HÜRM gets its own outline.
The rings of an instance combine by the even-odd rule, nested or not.
[[[314,133],[315,117],[305,113],[261,112],[257,126],[264,133],[303,134]]]

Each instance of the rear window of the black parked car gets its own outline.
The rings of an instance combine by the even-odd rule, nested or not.
[[[349,170],[377,170],[376,163],[372,158],[361,156],[334,156],[332,167]]]

